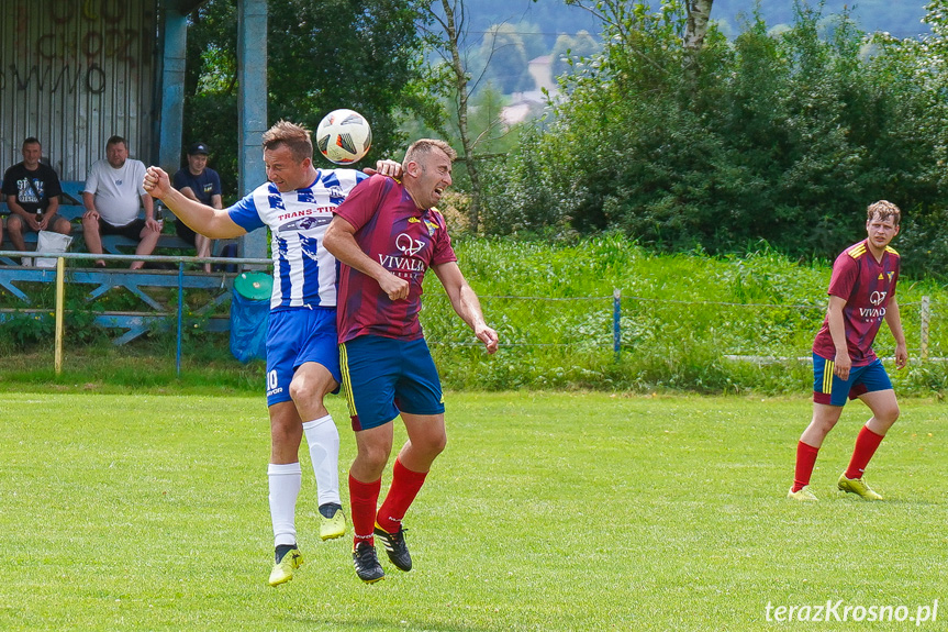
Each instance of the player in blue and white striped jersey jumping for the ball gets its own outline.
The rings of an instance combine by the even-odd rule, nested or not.
[[[302,564],[297,544],[295,505],[302,473],[303,434],[316,476],[320,536],[345,533],[339,499],[339,435],[323,398],[342,377],[336,334],[336,260],[322,241],[333,210],[368,175],[317,169],[304,127],[280,121],[263,136],[267,184],[228,209],[216,210],[175,190],[168,174],[150,167],[145,190],[160,198],[189,228],[211,239],[233,239],[269,226],[274,292],[267,328],[267,406],[270,414],[269,480],[275,564],[269,584],[293,578]],[[401,167],[381,160],[379,171]],[[370,170],[370,169],[369,169]]]

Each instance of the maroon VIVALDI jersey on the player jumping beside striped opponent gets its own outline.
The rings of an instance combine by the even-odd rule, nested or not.
[[[391,300],[378,281],[341,264],[336,322],[339,342],[360,335],[422,337],[422,281],[431,266],[456,262],[445,220],[421,210],[398,180],[372,176],[333,210],[355,229],[364,253],[409,281],[406,299]]]

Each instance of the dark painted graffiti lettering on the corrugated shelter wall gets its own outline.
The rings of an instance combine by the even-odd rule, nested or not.
[[[108,88],[105,67],[134,71],[148,65],[149,37],[130,27],[126,0],[51,0],[48,15],[33,29],[24,3],[16,10],[13,63],[0,65],[0,90],[42,93],[101,95]],[[3,47],[4,54],[12,51]],[[26,53],[23,55],[22,53]],[[30,62],[21,59],[30,59]]]

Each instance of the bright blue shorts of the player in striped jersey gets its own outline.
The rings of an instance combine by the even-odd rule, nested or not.
[[[323,365],[341,382],[337,340],[335,308],[271,311],[267,326],[267,406],[292,399],[290,381],[306,362]]]

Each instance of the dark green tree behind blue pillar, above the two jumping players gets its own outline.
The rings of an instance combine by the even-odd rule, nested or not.
[[[212,143],[219,166],[236,165],[235,5],[204,3],[188,33],[186,132]],[[416,0],[269,0],[268,95],[260,96],[269,122],[287,119],[315,130],[330,111],[349,108],[372,126],[365,164],[401,157],[399,112],[434,107],[423,81],[420,7]],[[235,175],[222,173],[222,179],[235,182]]]

